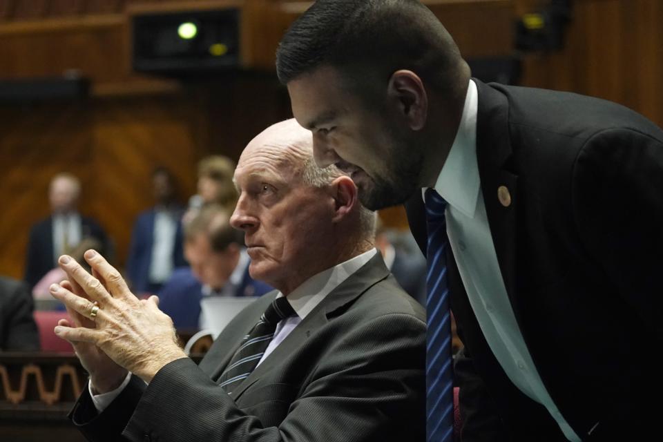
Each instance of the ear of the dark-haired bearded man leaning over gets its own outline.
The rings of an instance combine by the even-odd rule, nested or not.
[[[396,70],[389,79],[387,95],[405,124],[412,131],[421,131],[428,116],[428,95],[421,78],[412,70]]]

